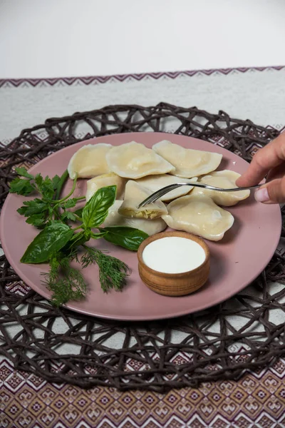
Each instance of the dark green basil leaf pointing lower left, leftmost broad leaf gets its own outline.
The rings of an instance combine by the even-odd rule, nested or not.
[[[46,226],[28,245],[21,263],[44,263],[71,239],[73,230],[63,223]]]

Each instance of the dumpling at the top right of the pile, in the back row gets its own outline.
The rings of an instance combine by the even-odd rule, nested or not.
[[[219,153],[184,148],[167,140],[156,143],[152,149],[175,166],[175,170],[170,173],[178,177],[192,178],[210,173],[222,161]]]

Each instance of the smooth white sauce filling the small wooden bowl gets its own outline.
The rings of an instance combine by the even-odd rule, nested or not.
[[[145,265],[164,273],[188,272],[202,265],[205,258],[201,245],[177,236],[152,241],[142,251]]]

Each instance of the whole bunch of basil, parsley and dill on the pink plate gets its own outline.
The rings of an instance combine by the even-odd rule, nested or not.
[[[81,263],[81,269],[90,264],[98,265],[100,285],[104,292],[112,288],[122,290],[130,274],[128,266],[123,261],[86,245],[91,238],[103,238],[136,251],[147,238],[147,233],[135,228],[100,227],[115,201],[116,186],[100,188],[83,208],[71,212],[69,208],[76,207],[80,200],[85,199],[72,198],[77,175],[71,192],[60,198],[68,178],[67,170],[61,177],[56,175],[53,178],[43,178],[41,174],[31,175],[26,168],[16,168],[16,173],[18,176],[11,181],[10,193],[24,196],[39,194],[37,198],[24,201],[17,210],[26,217],[26,223],[41,230],[28,245],[21,263],[49,264],[49,272],[43,273],[43,283],[53,292],[53,304],[60,306],[69,300],[81,300],[86,296],[86,282],[81,270],[71,266],[73,260]],[[72,227],[70,223],[76,227]]]

